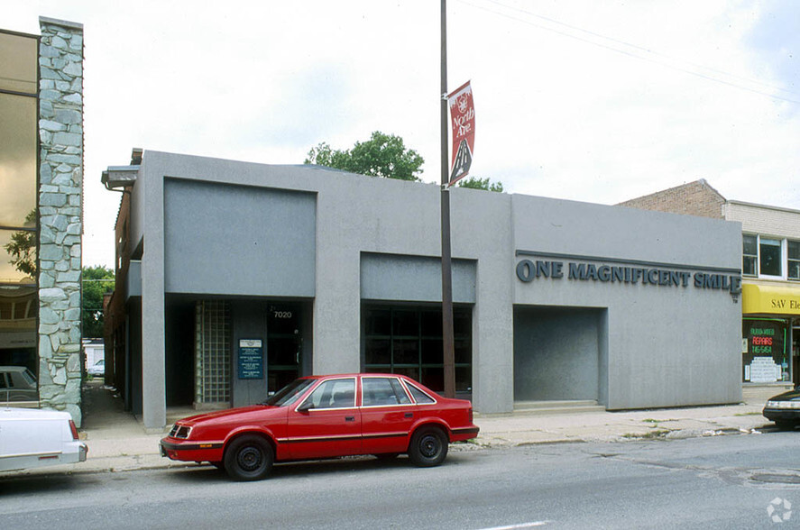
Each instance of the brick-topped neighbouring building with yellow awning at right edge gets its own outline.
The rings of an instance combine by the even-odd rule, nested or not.
[[[741,224],[741,381],[768,397],[800,383],[800,211],[727,200],[705,180],[631,206]]]

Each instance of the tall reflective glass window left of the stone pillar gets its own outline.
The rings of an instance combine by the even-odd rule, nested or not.
[[[0,32],[0,402],[38,400],[38,47]]]

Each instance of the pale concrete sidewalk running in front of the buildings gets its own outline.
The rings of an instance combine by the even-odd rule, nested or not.
[[[28,471],[0,472],[56,474],[119,472],[197,465],[170,461],[159,453],[164,430],[145,429],[141,418],[124,411],[123,400],[102,381],[84,387],[84,418],[79,430],[89,451],[87,461]],[[481,433],[470,443],[454,443],[450,451],[474,451],[538,443],[622,442],[641,439],[679,439],[718,435],[759,435],[763,427],[774,428],[761,416],[763,401],[718,407],[682,407],[608,412],[594,407],[548,408],[509,414],[475,414]],[[168,423],[194,414],[170,409]]]

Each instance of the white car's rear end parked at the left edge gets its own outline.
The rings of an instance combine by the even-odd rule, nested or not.
[[[0,471],[86,461],[87,445],[69,413],[0,407]]]

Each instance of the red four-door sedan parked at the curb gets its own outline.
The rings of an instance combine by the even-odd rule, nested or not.
[[[274,461],[405,452],[418,466],[445,460],[447,446],[474,438],[473,408],[397,374],[296,379],[261,405],[179,420],[161,455],[208,461],[235,480],[259,480]]]

